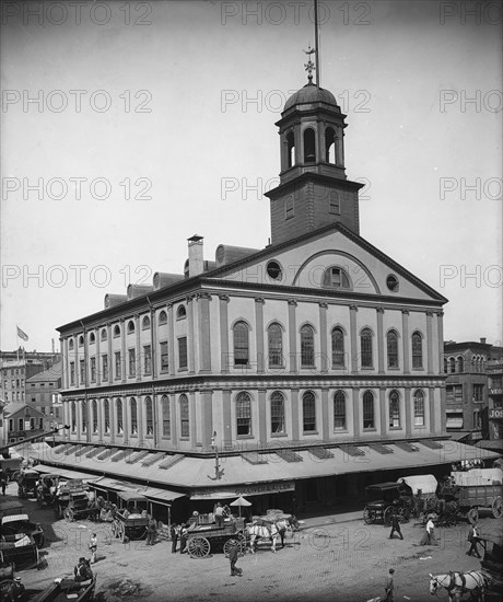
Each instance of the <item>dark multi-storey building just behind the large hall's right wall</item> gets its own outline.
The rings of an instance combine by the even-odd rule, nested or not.
[[[501,347],[477,341],[444,343],[446,427],[453,439],[477,442],[490,438],[488,366]]]

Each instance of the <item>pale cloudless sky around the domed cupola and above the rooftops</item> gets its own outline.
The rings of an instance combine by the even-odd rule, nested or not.
[[[262,248],[309,0],[3,2],[0,348],[48,351],[187,239]],[[502,344],[501,2],[320,2],[361,235]],[[16,325],[30,337],[16,338]]]

